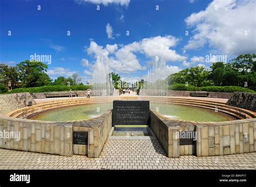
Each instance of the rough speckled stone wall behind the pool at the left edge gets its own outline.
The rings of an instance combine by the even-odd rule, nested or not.
[[[29,93],[14,93],[0,95],[0,115],[5,115],[12,110],[26,107],[26,103],[32,101],[32,105],[36,105]]]

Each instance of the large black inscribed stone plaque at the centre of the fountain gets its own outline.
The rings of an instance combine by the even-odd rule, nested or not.
[[[113,126],[146,125],[150,117],[149,101],[113,101]]]

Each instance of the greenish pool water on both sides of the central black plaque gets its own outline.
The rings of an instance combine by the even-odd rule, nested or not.
[[[29,119],[41,121],[84,120],[100,116],[106,110],[112,109],[112,107],[112,102],[62,107],[38,113],[29,117]],[[223,114],[221,112],[215,112],[214,110],[199,107],[177,105],[171,103],[150,102],[150,108],[157,110],[157,112],[167,117],[180,120],[206,122],[234,120],[231,116]]]

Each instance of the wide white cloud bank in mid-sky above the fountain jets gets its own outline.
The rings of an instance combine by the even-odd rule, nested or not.
[[[178,39],[172,36],[157,36],[152,38],[145,38],[140,41],[134,41],[127,45],[120,45],[118,49],[117,44],[99,46],[95,41],[91,41],[89,47],[85,47],[85,52],[89,55],[98,57],[102,63],[116,72],[130,73],[137,70],[145,70],[146,68],[139,63],[136,53],[145,54],[151,60],[159,57],[160,61],[181,61],[186,60],[187,57],[180,56],[175,50],[170,47],[176,46]],[[115,52],[114,52],[115,51]],[[113,56],[109,57],[109,54]]]

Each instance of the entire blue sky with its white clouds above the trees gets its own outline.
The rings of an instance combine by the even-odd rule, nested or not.
[[[210,67],[210,54],[230,60],[256,51],[256,8],[250,0],[0,2],[1,63],[50,55],[53,79],[78,73],[83,82],[91,80],[102,74],[97,57],[109,72],[128,80],[145,78],[156,56],[164,63],[158,78],[165,78],[198,64]]]

